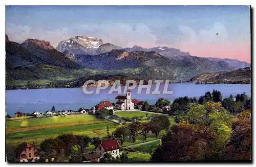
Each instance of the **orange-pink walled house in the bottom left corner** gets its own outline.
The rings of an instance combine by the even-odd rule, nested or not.
[[[40,159],[38,156],[38,150],[34,145],[23,142],[20,144],[15,152],[15,157],[19,162],[33,162]]]

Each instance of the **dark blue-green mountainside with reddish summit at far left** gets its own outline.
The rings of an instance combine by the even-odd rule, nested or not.
[[[49,42],[28,39],[22,45],[6,35],[6,89],[44,85],[54,79],[74,78],[71,70],[82,65],[66,58]]]

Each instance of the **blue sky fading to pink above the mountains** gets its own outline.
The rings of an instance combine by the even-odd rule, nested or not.
[[[175,47],[250,63],[248,6],[6,6],[6,34],[54,47],[78,35],[122,47]]]

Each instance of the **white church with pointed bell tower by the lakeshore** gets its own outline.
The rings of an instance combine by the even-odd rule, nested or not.
[[[128,90],[125,96],[117,96],[115,98],[115,109],[134,110],[134,103],[131,99],[131,91]]]

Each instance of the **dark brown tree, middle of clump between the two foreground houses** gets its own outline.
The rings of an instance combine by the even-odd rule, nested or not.
[[[70,154],[72,147],[77,144],[77,138],[73,134],[62,134],[57,139],[62,141],[61,148],[65,151],[66,157]]]

